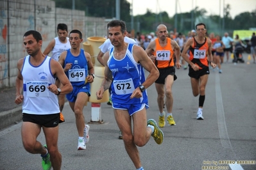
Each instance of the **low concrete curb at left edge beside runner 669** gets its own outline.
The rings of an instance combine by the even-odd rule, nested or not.
[[[0,130],[17,124],[22,120],[22,106],[12,109],[10,111],[0,112]]]

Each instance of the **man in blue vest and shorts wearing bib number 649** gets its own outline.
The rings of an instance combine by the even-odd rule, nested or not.
[[[77,29],[69,33],[71,49],[60,54],[60,65],[73,86],[73,91],[66,95],[69,105],[76,117],[78,130],[78,150],[85,150],[89,141],[89,125],[85,125],[83,107],[90,97],[90,83],[94,81],[94,67],[90,54],[80,48],[83,42],[81,32]]]

